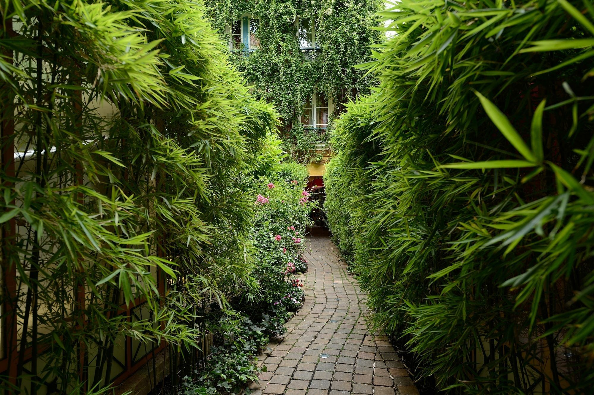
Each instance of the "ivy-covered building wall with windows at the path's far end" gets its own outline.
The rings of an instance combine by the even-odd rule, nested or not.
[[[233,42],[233,25],[242,17],[258,21],[250,37],[258,49],[247,51],[250,44],[233,42],[237,49],[230,57],[255,93],[276,104],[283,122],[283,148],[301,162],[316,160],[309,148],[313,142],[326,141],[326,133],[324,128],[304,128],[300,120],[304,103],[314,92],[324,94],[331,119],[342,111],[343,103],[368,93],[375,78],[355,66],[368,61],[369,46],[382,40],[383,33],[372,27],[380,26],[377,12],[384,9],[383,2],[206,0],[206,6],[225,42]],[[300,35],[300,21],[301,26],[314,27],[311,50],[302,49],[307,40],[304,30]]]

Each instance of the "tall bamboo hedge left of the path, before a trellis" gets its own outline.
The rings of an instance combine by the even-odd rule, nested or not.
[[[190,361],[204,305],[257,292],[239,175],[276,156],[264,148],[277,114],[195,2],[15,1],[2,18],[15,30],[0,31],[3,158],[29,151],[0,170],[2,265],[16,276],[2,324],[19,326],[2,336],[15,373],[3,389],[101,393],[125,337]]]

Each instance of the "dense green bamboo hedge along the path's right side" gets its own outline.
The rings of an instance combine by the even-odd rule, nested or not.
[[[451,393],[590,392],[594,9],[396,8],[324,181],[375,324]]]

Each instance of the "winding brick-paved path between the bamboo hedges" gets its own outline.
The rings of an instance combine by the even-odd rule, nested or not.
[[[252,383],[252,394],[418,394],[386,337],[368,332],[365,293],[334,244],[324,236],[308,243],[309,270],[298,276],[305,304],[286,324],[284,339],[258,355],[267,372]]]

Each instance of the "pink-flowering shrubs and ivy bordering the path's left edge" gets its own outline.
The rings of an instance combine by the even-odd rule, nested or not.
[[[238,297],[231,300],[239,311],[234,316],[239,318],[229,317],[213,307],[207,330],[225,336],[217,338],[207,364],[185,377],[183,391],[187,394],[215,391],[236,394],[249,381],[256,380],[258,369],[252,357],[262,351],[270,337],[286,332],[283,325],[289,320],[290,312],[299,310],[304,301],[303,283],[292,276],[297,265],[290,262],[299,262],[299,269],[307,270],[307,262],[300,257],[304,244],[298,238],[299,232],[302,234],[310,224],[308,214],[315,204],[301,200],[307,170],[303,165],[288,162],[277,164],[268,176],[270,179],[260,177],[250,190],[254,196],[257,192],[268,195],[265,198],[258,194],[250,232],[255,252],[251,274],[258,279],[258,292],[246,297],[249,289],[241,289]],[[274,238],[275,233],[283,235],[280,240]]]

